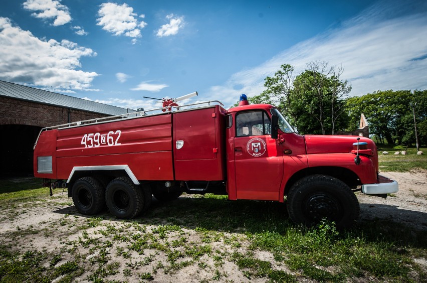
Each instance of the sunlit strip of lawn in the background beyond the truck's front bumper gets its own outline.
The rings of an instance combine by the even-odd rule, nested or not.
[[[415,148],[408,148],[407,155],[394,155],[395,152],[405,151],[404,146],[378,145],[379,170],[381,172],[408,172],[410,170],[427,170],[427,149],[422,148],[423,155],[416,155]],[[382,152],[389,155],[382,155]]]

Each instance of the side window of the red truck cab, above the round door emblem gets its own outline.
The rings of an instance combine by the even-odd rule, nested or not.
[[[264,111],[248,111],[237,114],[236,136],[271,134],[270,118]]]

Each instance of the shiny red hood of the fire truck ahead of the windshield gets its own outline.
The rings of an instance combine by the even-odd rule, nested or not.
[[[349,153],[359,136],[355,135],[305,135],[307,154]],[[368,143],[368,149],[376,153],[376,146],[370,138],[360,136],[359,142]]]

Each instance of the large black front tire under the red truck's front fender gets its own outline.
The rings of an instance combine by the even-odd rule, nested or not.
[[[289,191],[287,209],[295,223],[313,226],[326,218],[335,221],[338,228],[352,226],[360,212],[351,189],[327,175],[311,175],[297,181]]]

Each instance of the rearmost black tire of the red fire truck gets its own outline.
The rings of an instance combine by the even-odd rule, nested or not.
[[[84,215],[99,213],[105,206],[104,190],[93,177],[83,177],[73,185],[72,197],[76,209]]]

